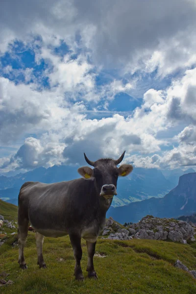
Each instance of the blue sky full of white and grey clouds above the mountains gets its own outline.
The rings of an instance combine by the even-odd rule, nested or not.
[[[196,167],[196,0],[1,0],[0,173]]]

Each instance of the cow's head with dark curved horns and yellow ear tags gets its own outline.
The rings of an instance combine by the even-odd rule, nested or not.
[[[94,169],[89,167],[82,167],[78,169],[79,174],[84,178],[95,178],[96,188],[100,196],[106,199],[112,198],[117,195],[117,180],[119,176],[126,176],[132,172],[133,167],[130,164],[123,164],[119,168],[117,167],[123,160],[124,153],[117,160],[111,158],[99,159],[97,161],[91,161],[84,153],[86,162],[93,166]]]

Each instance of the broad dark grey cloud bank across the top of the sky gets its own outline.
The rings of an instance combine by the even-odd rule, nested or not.
[[[95,63],[124,64],[130,73],[158,68],[164,75],[196,62],[195,0],[21,0],[20,7],[8,0],[0,5],[1,51],[14,39],[27,43],[40,35],[45,45],[66,40],[73,51],[88,50]]]

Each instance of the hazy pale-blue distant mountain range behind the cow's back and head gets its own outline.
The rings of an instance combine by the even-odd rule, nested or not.
[[[20,188],[27,181],[54,183],[72,180],[79,176],[77,167],[70,166],[53,166],[48,169],[41,167],[11,177],[0,176],[0,198],[17,205]],[[134,168],[130,175],[119,178],[118,196],[114,198],[112,204],[115,207],[150,197],[163,197],[173,187],[173,183],[157,169]]]

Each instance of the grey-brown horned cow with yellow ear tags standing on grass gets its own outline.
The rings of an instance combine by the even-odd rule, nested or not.
[[[82,258],[81,238],[86,240],[88,251],[88,277],[97,279],[93,257],[100,231],[105,224],[106,212],[113,196],[117,195],[117,180],[126,176],[133,167],[123,164],[124,153],[117,160],[111,158],[89,160],[93,166],[78,169],[81,178],[59,183],[44,184],[26,182],[21,187],[18,198],[18,240],[20,268],[27,269],[24,258],[29,222],[35,229],[37,256],[40,268],[46,268],[42,247],[44,236],[61,237],[69,235],[75,259],[74,276],[83,280],[80,261]]]

